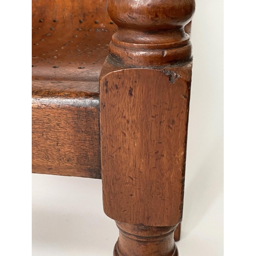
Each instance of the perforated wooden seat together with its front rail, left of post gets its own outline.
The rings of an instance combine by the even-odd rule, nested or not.
[[[98,81],[117,26],[93,3],[32,1],[33,173],[101,178]]]

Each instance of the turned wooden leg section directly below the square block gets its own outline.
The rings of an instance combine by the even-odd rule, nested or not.
[[[146,227],[116,222],[119,238],[114,256],[178,256],[174,242],[177,227]]]

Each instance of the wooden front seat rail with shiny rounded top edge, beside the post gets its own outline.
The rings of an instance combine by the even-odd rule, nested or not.
[[[100,179],[98,83],[32,83],[32,172]]]

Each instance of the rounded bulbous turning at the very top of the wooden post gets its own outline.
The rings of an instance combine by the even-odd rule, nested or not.
[[[165,30],[185,26],[195,0],[109,0],[108,12],[119,28]]]

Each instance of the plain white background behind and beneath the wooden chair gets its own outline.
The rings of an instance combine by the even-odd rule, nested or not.
[[[196,1],[180,256],[223,255],[223,3]],[[112,255],[101,180],[32,175],[32,255]]]

